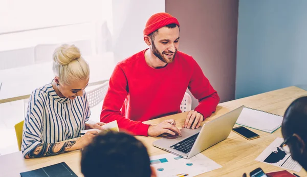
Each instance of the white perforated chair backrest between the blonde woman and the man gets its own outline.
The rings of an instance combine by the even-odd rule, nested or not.
[[[90,107],[96,106],[104,99],[107,89],[108,81],[104,82],[96,89],[86,92],[87,100],[89,101]]]

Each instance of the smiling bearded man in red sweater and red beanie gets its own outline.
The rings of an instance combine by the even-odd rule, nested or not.
[[[172,119],[158,125],[147,125],[142,121],[181,113],[181,101],[188,88],[199,100],[199,105],[188,113],[183,127],[198,128],[204,118],[215,111],[220,97],[198,63],[178,51],[178,20],[168,13],[152,15],[144,29],[144,41],[149,49],[116,65],[100,121],[117,120],[119,128],[134,135],[180,135]]]

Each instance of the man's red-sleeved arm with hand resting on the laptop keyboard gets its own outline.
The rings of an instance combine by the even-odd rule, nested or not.
[[[122,116],[121,108],[124,104],[124,101],[128,95],[128,83],[127,78],[119,65],[116,65],[113,74],[109,80],[109,89],[103,101],[103,106],[100,115],[100,122],[112,122],[117,120],[118,126],[120,129],[125,129],[134,135],[141,136],[158,136],[166,129],[171,129],[175,132],[180,132],[179,129],[170,124],[166,125],[164,122],[163,126],[150,126],[148,124],[144,124],[140,121],[133,121],[124,116]],[[169,123],[168,123],[169,124]],[[150,126],[150,129],[149,129]],[[161,130],[163,129],[165,130]],[[163,133],[162,132],[162,133]],[[161,133],[161,134],[162,134]]]

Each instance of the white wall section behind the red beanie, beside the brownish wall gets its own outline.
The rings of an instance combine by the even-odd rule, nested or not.
[[[165,0],[113,0],[113,51],[115,61],[121,61],[147,47],[143,30],[147,19],[165,12]]]

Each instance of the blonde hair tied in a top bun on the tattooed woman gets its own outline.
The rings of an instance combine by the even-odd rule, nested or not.
[[[64,44],[53,53],[53,72],[59,81],[69,84],[90,77],[89,64],[81,57],[79,49],[74,45]]]

